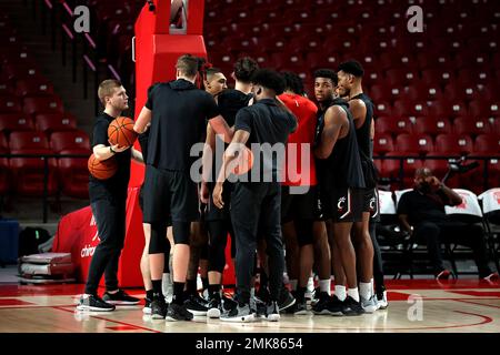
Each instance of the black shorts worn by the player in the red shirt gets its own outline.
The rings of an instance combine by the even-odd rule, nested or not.
[[[320,216],[316,186],[281,186],[281,223]]]

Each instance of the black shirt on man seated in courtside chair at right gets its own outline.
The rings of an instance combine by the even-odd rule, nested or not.
[[[398,203],[398,214],[408,215],[409,222],[417,225],[421,222],[447,222],[444,205],[449,204],[447,195],[437,193],[423,194],[418,190],[404,193]]]

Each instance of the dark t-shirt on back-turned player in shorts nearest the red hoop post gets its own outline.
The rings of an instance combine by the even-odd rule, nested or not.
[[[146,106],[152,111],[147,164],[189,171],[199,159],[190,156],[191,148],[203,141],[208,121],[219,115],[216,100],[179,79],[151,88]]]

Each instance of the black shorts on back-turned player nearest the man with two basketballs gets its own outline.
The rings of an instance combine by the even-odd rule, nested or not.
[[[148,165],[144,178],[144,223],[193,222],[199,219],[198,189],[189,172]]]

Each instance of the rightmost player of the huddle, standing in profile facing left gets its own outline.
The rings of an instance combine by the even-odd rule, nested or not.
[[[359,152],[361,154],[361,164],[366,190],[363,192],[363,219],[354,223],[353,237],[358,254],[360,270],[360,296],[361,304],[367,313],[373,313],[378,308],[377,296],[373,294],[373,242],[369,232],[370,215],[374,211],[377,181],[374,175],[373,155],[371,150],[371,128],[373,122],[373,103],[370,98],[363,93],[362,77],[364,70],[362,65],[354,61],[347,61],[339,65],[339,94],[349,98],[349,110],[356,125],[356,135],[358,140]],[[374,240],[376,244],[377,240]],[[380,280],[378,280],[380,282]],[[383,286],[383,274],[382,274]],[[379,285],[380,287],[380,285]]]

